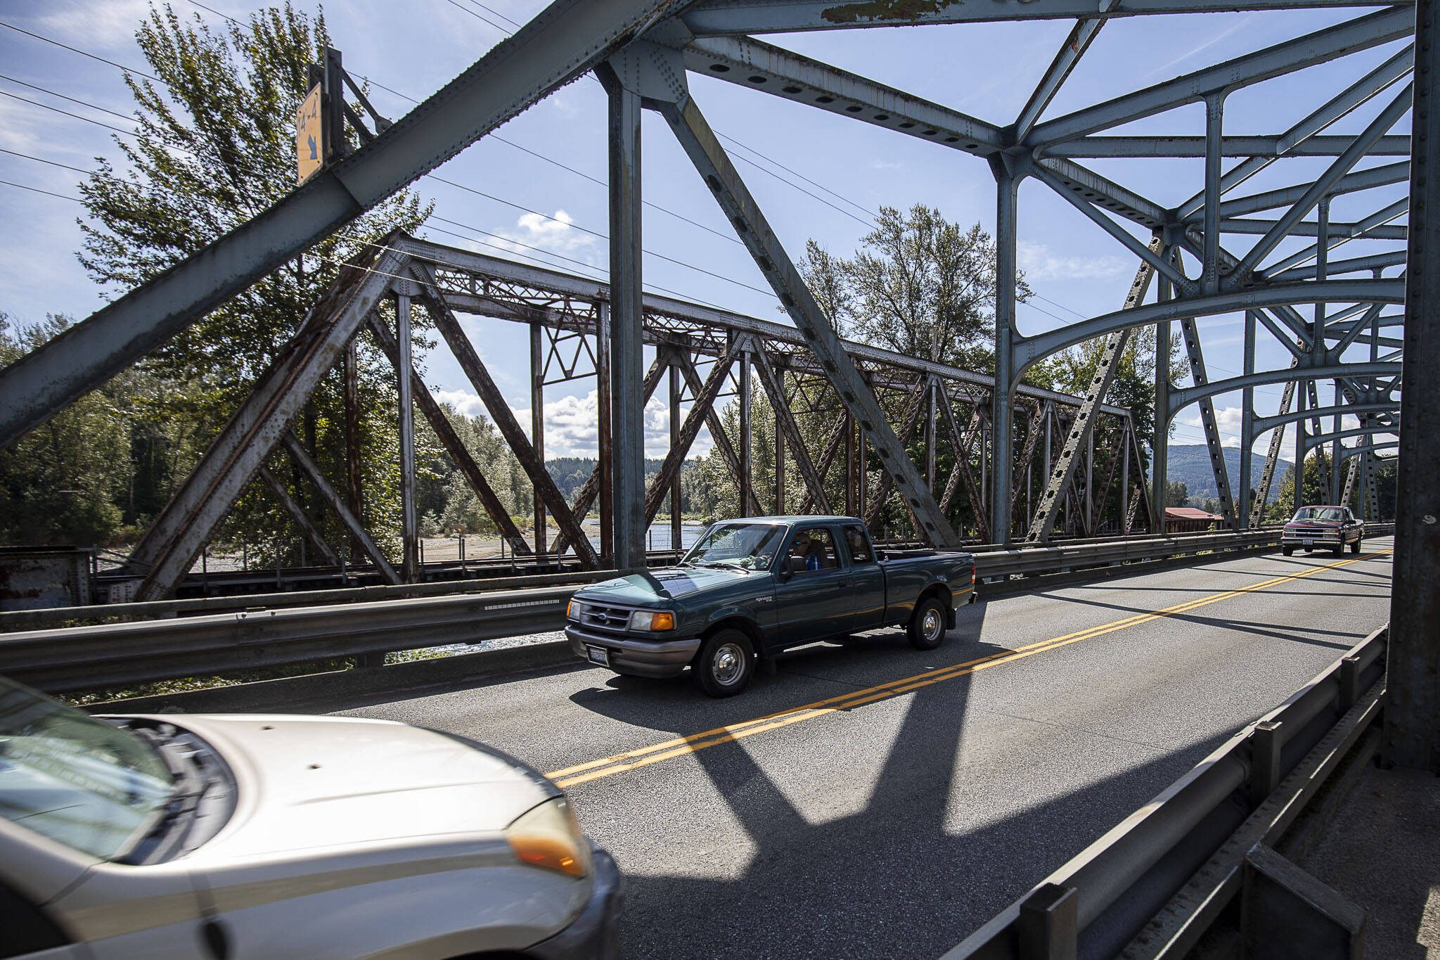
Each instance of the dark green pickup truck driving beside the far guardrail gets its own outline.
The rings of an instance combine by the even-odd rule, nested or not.
[[[674,567],[582,587],[564,635],[619,674],[690,666],[704,692],[733,697],[757,659],[827,636],[904,626],[935,649],[973,600],[968,553],[880,553],[854,517],[750,517],[714,524]]]

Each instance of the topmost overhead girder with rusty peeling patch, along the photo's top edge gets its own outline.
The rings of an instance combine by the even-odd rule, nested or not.
[[[1207,13],[1346,7],[1348,0],[1030,0],[1027,3],[874,3],[873,0],[701,0],[680,19],[696,36],[795,33],[855,27],[899,27],[986,20],[1128,17],[1148,13]]]

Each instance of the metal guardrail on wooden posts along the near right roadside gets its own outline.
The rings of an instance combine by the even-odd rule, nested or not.
[[[1384,707],[1388,626],[1246,727],[943,960],[1184,957],[1362,743]],[[1273,856],[1273,855],[1272,855]]]

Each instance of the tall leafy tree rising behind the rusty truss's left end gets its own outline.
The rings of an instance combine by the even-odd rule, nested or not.
[[[135,42],[147,69],[158,78],[125,76],[138,135],[134,142],[117,137],[124,163],[101,158],[96,173],[81,186],[92,220],[81,222],[85,239],[79,259],[96,282],[117,294],[150,281],[294,189],[294,114],[308,89],[307,66],[323,60],[330,36],[323,13],[311,19],[289,3],[220,29],[163,4],[150,7]],[[157,389],[131,397],[135,422],[183,423],[187,429],[168,446],[132,446],[135,462],[156,466],[157,458],[166,461],[164,469],[141,474],[145,488],[137,502],[144,510],[137,511],[137,522],[168,498],[173,478],[189,472],[287,348],[340,265],[395,229],[413,229],[428,214],[429,206],[416,194],[396,194],[217,307],[140,364]],[[423,322],[423,314],[418,320]],[[426,345],[422,337],[418,347]],[[396,377],[379,350],[363,340],[359,354],[366,518],[379,530],[393,528],[399,486]],[[302,443],[331,476],[344,471],[343,425],[343,386],[333,373],[298,425]],[[282,463],[276,459],[276,466]],[[307,512],[324,518],[298,474],[287,468],[279,475],[289,479]],[[324,522],[331,527],[328,538],[338,544],[338,525]],[[289,517],[258,485],[240,497],[226,528],[232,535],[289,530],[279,540],[298,538]]]

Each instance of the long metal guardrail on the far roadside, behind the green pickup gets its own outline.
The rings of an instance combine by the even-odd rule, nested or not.
[[[1277,541],[1276,530],[1185,534],[976,551],[975,558],[978,576],[1009,580],[1264,548]],[[320,603],[317,594],[282,593],[62,609],[45,613],[66,619],[147,615],[164,619],[0,633],[0,674],[45,691],[69,692],[543,633],[564,625],[564,604],[577,586],[608,576],[613,571],[559,574],[564,583],[549,579],[544,586],[520,590],[487,590],[495,581],[477,581],[471,593],[455,593],[454,584],[438,583],[325,590]],[[432,596],[439,590],[445,593]],[[389,599],[396,596],[403,599]],[[336,603],[341,599],[350,602]],[[235,609],[240,606],[238,600],[245,602],[243,609]],[[217,613],[217,604],[229,612]],[[177,616],[181,613],[194,616]]]

